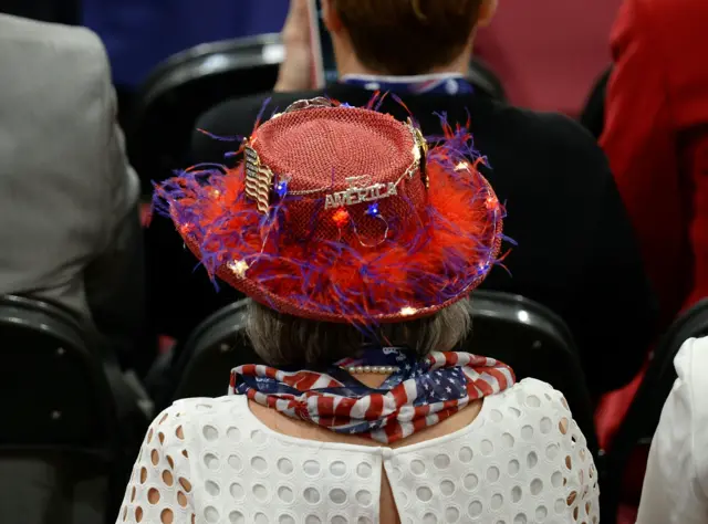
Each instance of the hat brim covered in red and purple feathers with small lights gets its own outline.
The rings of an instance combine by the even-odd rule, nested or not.
[[[418,229],[375,249],[279,243],[287,206],[266,221],[243,195],[242,168],[211,175],[207,184],[185,174],[163,186],[170,192],[158,192],[209,274],[254,301],[316,321],[393,323],[431,315],[467,296],[501,247],[503,209],[487,180],[471,164],[450,170],[431,157]]]

